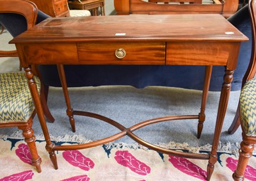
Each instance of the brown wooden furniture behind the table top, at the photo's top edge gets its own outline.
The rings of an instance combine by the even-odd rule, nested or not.
[[[204,0],[114,0],[114,4],[118,15],[218,13],[230,17],[237,11],[239,1],[210,0],[204,3]]]

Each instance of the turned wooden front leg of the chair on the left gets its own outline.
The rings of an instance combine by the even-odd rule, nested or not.
[[[36,143],[35,143],[35,136],[34,136],[34,130],[31,127],[32,121],[28,123],[28,126],[22,129],[22,135],[25,138],[25,142],[28,144],[29,151],[31,153],[32,158],[32,165],[35,166],[36,171],[38,173],[41,172],[41,158],[38,155],[38,152],[36,150]]]

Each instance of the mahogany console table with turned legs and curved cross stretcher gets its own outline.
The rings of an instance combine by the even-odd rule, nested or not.
[[[217,148],[221,128],[228,104],[232,75],[236,69],[240,43],[248,38],[237,31],[221,15],[124,15],[93,16],[47,19],[14,38],[20,63],[26,71],[36,112],[44,131],[46,148],[56,165],[55,150],[76,150],[102,145],[127,135],[141,145],[158,152],[179,155],[193,159],[206,159],[207,180],[210,180],[217,161]],[[31,65],[56,64],[67,103],[67,115],[75,131],[74,115],[90,116],[107,122],[120,132],[108,138],[81,145],[54,145],[49,137],[47,125]],[[205,65],[205,90],[199,114],[166,116],[146,120],[125,128],[105,116],[74,111],[68,97],[63,65]],[[132,132],[157,122],[196,119],[198,130],[204,122],[207,86],[211,77],[212,65],[225,65],[227,68],[221,88],[220,104],[216,127],[212,135],[212,150],[209,154],[184,153],[153,145]],[[186,72],[184,72],[186,74]],[[122,108],[120,108],[122,109]],[[198,136],[200,137],[200,135]],[[231,177],[231,175],[230,175]]]

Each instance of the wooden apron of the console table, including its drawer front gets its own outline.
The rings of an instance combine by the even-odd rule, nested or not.
[[[234,67],[240,42],[60,42],[24,43],[28,64],[66,65],[228,65]],[[117,49],[124,49],[118,58]],[[234,64],[234,65],[233,65]]]

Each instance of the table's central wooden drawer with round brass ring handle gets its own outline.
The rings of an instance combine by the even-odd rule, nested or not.
[[[80,63],[88,65],[164,65],[165,42],[77,43]]]

